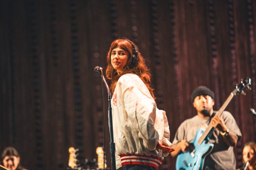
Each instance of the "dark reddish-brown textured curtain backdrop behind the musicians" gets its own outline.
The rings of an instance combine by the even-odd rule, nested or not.
[[[118,37],[133,40],[147,59],[171,140],[196,114],[195,87],[213,89],[218,109],[251,77],[252,90],[227,107],[243,133],[237,165],[243,144],[255,141],[248,113],[256,108],[255,0],[1,0],[0,12],[0,149],[17,147],[26,168],[64,170],[70,146],[80,149],[81,163],[97,157],[104,116],[93,68],[105,70]],[[110,167],[108,126],[106,154]],[[174,165],[168,156],[160,169]]]

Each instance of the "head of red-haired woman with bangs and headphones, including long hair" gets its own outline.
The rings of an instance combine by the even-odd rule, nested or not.
[[[153,98],[153,88],[150,86],[151,74],[145,64],[145,59],[138,47],[130,40],[123,38],[111,43],[107,54],[106,76],[111,79],[111,92],[114,92],[116,83],[124,74],[132,73],[140,77],[146,84]]]

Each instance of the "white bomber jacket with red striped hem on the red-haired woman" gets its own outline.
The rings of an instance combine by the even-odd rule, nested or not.
[[[166,113],[156,107],[147,86],[135,74],[122,75],[111,100],[116,168],[125,164],[158,168],[163,158],[156,144],[171,147]]]

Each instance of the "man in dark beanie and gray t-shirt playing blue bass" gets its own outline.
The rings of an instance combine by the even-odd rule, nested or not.
[[[211,123],[214,127],[209,143],[213,143],[213,150],[204,159],[204,170],[235,170],[236,160],[233,147],[242,137],[234,117],[224,111],[216,116],[213,111],[214,93],[206,86],[197,87],[191,94],[191,102],[197,110],[197,115],[185,120],[179,126],[174,140],[175,151],[171,156],[186,152],[191,147],[199,128],[206,129]]]

